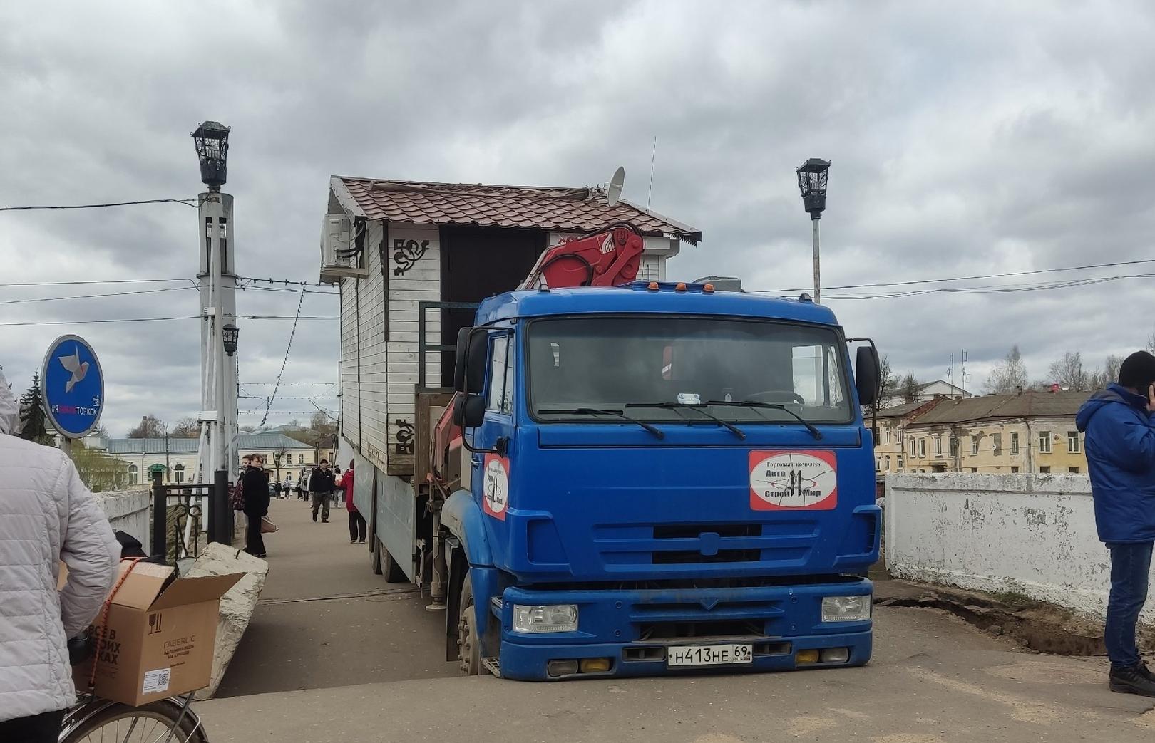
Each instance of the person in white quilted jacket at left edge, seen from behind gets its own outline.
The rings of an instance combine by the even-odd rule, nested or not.
[[[54,743],[76,704],[67,639],[112,591],[120,543],[68,457],[18,428],[0,373],[0,741]]]

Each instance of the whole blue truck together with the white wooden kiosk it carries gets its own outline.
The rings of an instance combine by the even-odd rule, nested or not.
[[[612,192],[331,179],[372,569],[464,674],[866,663],[873,345],[806,295],[664,282],[701,232]]]

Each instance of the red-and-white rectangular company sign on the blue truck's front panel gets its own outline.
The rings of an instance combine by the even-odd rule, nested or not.
[[[755,511],[829,511],[839,504],[833,451],[750,452],[750,508]]]

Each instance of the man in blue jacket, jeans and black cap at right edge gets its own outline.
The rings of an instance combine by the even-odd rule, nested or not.
[[[1155,697],[1155,675],[1135,644],[1155,543],[1155,355],[1127,357],[1118,384],[1083,403],[1075,423],[1087,434],[1095,526],[1111,551],[1103,630],[1111,691]]]

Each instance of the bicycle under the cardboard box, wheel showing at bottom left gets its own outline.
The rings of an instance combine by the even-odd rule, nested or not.
[[[94,651],[90,637],[68,640],[73,666],[88,660]],[[162,699],[140,707],[79,693],[80,700],[65,713],[60,743],[208,743],[201,719],[189,706],[193,693]]]

